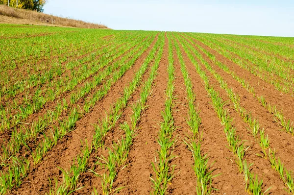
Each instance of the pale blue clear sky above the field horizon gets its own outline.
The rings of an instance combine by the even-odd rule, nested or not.
[[[294,37],[294,0],[48,0],[44,13],[117,30]]]

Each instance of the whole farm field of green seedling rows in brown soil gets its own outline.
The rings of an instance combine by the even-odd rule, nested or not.
[[[0,194],[294,194],[294,38],[0,24]]]

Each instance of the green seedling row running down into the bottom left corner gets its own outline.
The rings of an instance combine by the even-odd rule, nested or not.
[[[109,79],[98,92],[93,95],[93,98],[88,101],[90,108],[95,105],[95,103],[104,97],[107,94],[107,91],[110,87],[117,81],[119,78],[131,68],[137,58],[139,58],[143,52],[149,47],[151,43],[146,44],[144,49],[141,49],[140,52],[133,55],[132,59],[129,60],[122,68],[113,73],[113,78]],[[111,70],[110,70],[111,71]],[[86,105],[86,104],[85,104]],[[89,107],[88,105],[88,107]],[[87,109],[89,112],[90,109]],[[32,153],[33,165],[36,166],[43,156],[49,151],[52,146],[57,144],[57,141],[60,140],[66,133],[73,130],[75,122],[77,122],[83,116],[83,110],[80,108],[72,108],[70,110],[69,117],[62,122],[59,122],[59,127],[55,126],[52,130],[52,138],[49,136],[44,136],[44,141],[36,147],[35,151]],[[87,112],[85,112],[87,113]],[[15,159],[16,160],[15,160]],[[7,190],[12,189],[14,186],[19,186],[23,178],[26,177],[27,171],[30,167],[30,162],[28,159],[21,160],[20,158],[13,157],[12,164],[9,165],[9,170],[1,172],[0,175],[0,192],[7,192]]]

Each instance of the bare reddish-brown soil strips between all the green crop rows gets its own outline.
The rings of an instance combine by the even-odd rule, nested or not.
[[[26,29],[27,30],[27,29]],[[136,41],[136,35],[131,36],[130,32],[122,32],[126,36],[130,34],[130,40],[126,41]],[[154,33],[154,32],[153,32]],[[161,32],[163,33],[163,32]],[[41,34],[40,34],[41,35]],[[45,36],[45,34],[42,34]],[[151,34],[150,34],[151,35]],[[150,35],[145,34],[146,39],[150,38]],[[155,34],[152,34],[155,36]],[[155,159],[158,159],[157,151],[160,149],[158,144],[158,135],[160,131],[160,122],[163,121],[162,112],[165,109],[166,101],[166,88],[168,83],[168,72],[167,67],[169,65],[169,42],[167,38],[167,33],[165,33],[165,43],[163,48],[163,56],[159,63],[159,68],[157,70],[157,76],[152,83],[152,90],[147,98],[147,107],[143,111],[140,121],[137,124],[136,136],[133,139],[132,146],[127,156],[125,165],[117,168],[118,172],[113,183],[113,189],[122,189],[119,194],[123,195],[147,195],[152,194],[152,181],[150,178],[154,178],[155,173],[152,169],[152,163]],[[239,95],[241,106],[245,108],[248,113],[251,113],[251,117],[258,119],[260,127],[264,129],[265,133],[269,135],[270,147],[274,148],[276,151],[276,157],[281,159],[287,170],[294,170],[294,136],[290,133],[285,132],[280,124],[274,119],[274,115],[271,114],[263,105],[258,101],[257,97],[263,96],[266,98],[267,102],[271,105],[275,105],[278,110],[281,110],[283,115],[287,120],[294,122],[294,97],[289,94],[282,94],[277,89],[275,89],[269,83],[263,81],[260,77],[255,76],[249,71],[238,66],[228,58],[221,55],[218,51],[206,46],[201,39],[196,36],[192,36],[187,39],[181,33],[170,33],[172,42],[170,44],[180,44],[177,37],[181,39],[186,39],[187,42],[196,49],[203,59],[212,67],[216,73],[220,74],[227,85],[232,89],[232,91]],[[62,170],[69,170],[73,164],[73,159],[76,158],[81,153],[83,144],[91,145],[93,135],[95,133],[95,127],[93,124],[98,124],[103,118],[105,118],[105,113],[110,112],[112,105],[123,96],[123,89],[128,86],[129,82],[134,78],[135,73],[142,66],[144,60],[147,58],[148,53],[155,45],[158,40],[159,33],[155,36],[150,47],[144,51],[144,53],[136,60],[134,65],[130,70],[126,71],[123,76],[111,86],[107,95],[104,96],[100,101],[98,101],[95,106],[90,110],[89,113],[82,116],[75,123],[73,131],[67,133],[61,140],[58,140],[57,145],[53,146],[49,152],[44,156],[42,161],[36,166],[31,166],[28,171],[28,175],[23,179],[22,184],[19,187],[13,188],[9,193],[15,195],[45,195],[49,193],[50,188],[54,188],[54,180],[58,185],[63,182]],[[36,37],[37,39],[38,37]],[[101,37],[105,42],[109,42],[109,46],[112,41],[116,40],[116,35],[110,34],[108,36]],[[103,42],[104,43],[104,42]],[[236,43],[236,42],[232,42]],[[137,46],[141,46],[142,43],[138,41]],[[241,45],[240,45],[241,46]],[[118,46],[117,49],[119,49]],[[224,72],[215,62],[211,61],[210,58],[202,52],[198,47],[206,49],[210,53],[216,56],[216,60],[221,61],[225,64],[231,71],[233,71],[240,78],[244,78],[250,86],[254,88],[256,97],[246,91],[242,85],[236,81],[230,74]],[[245,46],[244,46],[245,47]],[[91,47],[91,51],[94,52],[96,49]],[[122,56],[116,58],[112,63],[120,60],[124,55],[134,48],[125,51]],[[248,47],[248,49],[250,49]],[[253,48],[251,48],[253,49]],[[187,68],[188,74],[192,81],[192,89],[196,95],[194,105],[196,110],[199,112],[199,117],[201,118],[201,125],[199,127],[199,136],[196,141],[201,143],[201,154],[206,155],[209,158],[208,166],[209,171],[213,171],[214,175],[217,175],[212,179],[211,186],[213,188],[213,195],[245,195],[245,180],[244,175],[238,170],[237,163],[235,162],[234,153],[230,150],[226,135],[224,132],[224,126],[221,124],[217,113],[215,112],[214,106],[212,104],[211,98],[208,96],[207,91],[204,87],[204,82],[200,75],[196,72],[194,64],[191,62],[187,53],[185,53],[184,48],[180,45],[180,50],[183,56],[185,66]],[[254,49],[253,49],[254,50]],[[190,50],[191,51],[191,50]],[[254,50],[258,51],[258,50]],[[156,51],[158,53],[159,51]],[[175,130],[173,132],[172,138],[176,140],[174,146],[172,147],[172,152],[175,158],[169,164],[170,167],[174,167],[173,178],[168,184],[166,194],[174,195],[195,195],[197,178],[193,170],[194,158],[192,152],[188,149],[184,140],[191,137],[192,132],[187,123],[188,119],[188,99],[186,86],[184,82],[184,77],[181,72],[181,64],[179,62],[175,48],[173,47],[173,58],[174,58],[174,68],[175,68],[175,80],[174,80],[174,93],[175,97],[172,107],[172,116],[174,119]],[[264,53],[269,55],[268,53]],[[70,60],[81,59],[89,55],[86,52],[85,55],[77,56],[73,55]],[[102,54],[104,55],[104,54]],[[107,54],[105,54],[107,55]],[[280,174],[271,168],[269,158],[263,158],[257,154],[262,155],[262,149],[259,145],[259,139],[255,140],[250,133],[249,126],[240,117],[239,113],[234,109],[233,103],[231,102],[226,91],[220,86],[219,81],[216,80],[214,75],[209,72],[204,64],[196,57],[195,54],[192,56],[196,59],[201,70],[209,77],[209,85],[218,92],[219,96],[223,101],[227,102],[224,108],[228,110],[228,115],[232,119],[234,128],[236,128],[236,134],[240,140],[248,146],[245,152],[245,160],[248,164],[253,163],[250,171],[258,175],[259,181],[263,181],[262,188],[263,191],[270,188],[269,193],[273,195],[286,195],[286,186],[280,178]],[[102,56],[97,56],[102,57]],[[238,56],[233,56],[238,58]],[[240,57],[240,56],[239,56]],[[280,59],[283,56],[281,56]],[[130,58],[128,59],[130,60]],[[27,63],[32,63],[28,61]],[[108,66],[110,66],[109,64]],[[98,194],[102,194],[101,177],[95,175],[92,171],[98,174],[103,174],[107,172],[105,169],[101,169],[95,166],[98,161],[97,157],[107,157],[109,149],[113,143],[117,143],[124,135],[124,131],[121,129],[120,125],[123,122],[130,124],[130,116],[132,112],[132,104],[138,101],[140,93],[142,91],[143,83],[148,79],[150,74],[150,67],[154,65],[154,59],[149,63],[147,71],[143,74],[142,81],[140,85],[136,88],[135,92],[132,94],[131,98],[127,102],[127,106],[121,111],[121,116],[116,122],[115,126],[112,127],[107,135],[104,137],[104,146],[93,150],[87,162],[87,170],[82,172],[77,179],[76,188],[83,187],[76,192],[74,195],[89,195],[93,192],[93,189],[97,190]],[[63,64],[65,66],[65,64]],[[106,69],[107,67],[105,67]],[[104,69],[103,69],[104,70]],[[76,70],[75,70],[76,71]],[[100,71],[99,71],[100,72]],[[95,73],[96,75],[98,73]],[[67,72],[62,74],[62,76],[68,75]],[[66,98],[69,102],[71,94],[78,90],[86,81],[91,81],[94,75],[89,75],[88,78],[81,81],[71,92],[62,93],[54,101],[47,102],[45,106],[38,112],[30,115],[26,123],[31,123],[37,120],[39,117],[45,115],[48,109],[54,108],[56,106],[57,100],[61,98]],[[112,75],[108,76],[103,83],[107,82]],[[55,79],[55,78],[54,78]],[[50,81],[48,81],[49,83]],[[102,84],[103,84],[102,83]],[[93,89],[85,98],[80,99],[74,106],[82,107],[85,103],[86,98],[91,98],[92,95],[97,92],[102,85],[99,85]],[[40,88],[46,88],[46,86],[40,86]],[[35,89],[35,88],[32,88]],[[18,97],[18,96],[17,96]],[[7,102],[13,99],[8,99]],[[3,101],[3,100],[2,100]],[[20,100],[21,101],[21,100]],[[6,102],[5,100],[3,102]],[[22,102],[20,102],[22,103]],[[4,105],[4,104],[3,104]],[[68,117],[67,112],[64,112],[59,120],[63,121]],[[58,121],[54,122],[58,124]],[[27,124],[22,124],[27,125]],[[50,128],[44,129],[44,134],[50,135]],[[17,126],[17,130],[21,130],[20,126]],[[4,146],[11,138],[11,131],[6,130],[0,135],[0,142]],[[5,141],[4,141],[5,139]],[[43,134],[38,134],[36,140],[30,141],[28,146],[35,150],[35,147],[44,140]],[[2,151],[2,150],[1,150]],[[32,163],[31,153],[24,147],[20,150],[17,156],[25,156]],[[7,171],[7,166],[1,166],[1,171]],[[50,180],[52,181],[50,184]]]

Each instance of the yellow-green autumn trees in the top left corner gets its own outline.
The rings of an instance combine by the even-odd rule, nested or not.
[[[36,10],[43,12],[43,6],[47,0],[18,0],[17,8]],[[0,4],[8,4],[8,0],[0,0]],[[10,7],[16,7],[16,0],[9,0]]]

